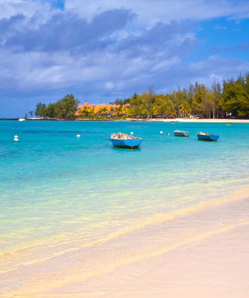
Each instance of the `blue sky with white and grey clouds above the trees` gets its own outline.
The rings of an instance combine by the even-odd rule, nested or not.
[[[248,0],[0,0],[0,118],[248,71]]]

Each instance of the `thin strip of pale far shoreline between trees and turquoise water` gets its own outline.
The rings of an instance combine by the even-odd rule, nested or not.
[[[0,120],[8,120],[8,121],[18,121],[19,118],[9,118],[9,119],[0,119]],[[28,118],[27,121],[110,121],[110,122],[196,122],[196,123],[249,123],[249,119],[135,119],[135,118],[127,118],[127,119],[41,119],[41,118]]]

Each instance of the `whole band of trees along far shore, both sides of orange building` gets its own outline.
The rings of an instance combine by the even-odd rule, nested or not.
[[[95,117],[92,106],[83,106],[73,94],[67,94],[56,103],[48,105],[38,102],[34,114],[36,117],[74,119],[78,111],[80,116]],[[110,102],[113,106],[103,106],[99,116],[136,117],[136,118],[249,118],[249,72],[240,74],[236,79],[216,80],[210,87],[195,82],[188,88],[178,87],[172,92],[155,94],[152,87],[141,94],[134,93],[125,99]],[[32,117],[29,112],[30,116]]]

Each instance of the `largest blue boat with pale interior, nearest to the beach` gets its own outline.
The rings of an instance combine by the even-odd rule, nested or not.
[[[114,147],[130,149],[138,148],[142,142],[141,138],[132,137],[123,133],[112,134],[111,140]]]

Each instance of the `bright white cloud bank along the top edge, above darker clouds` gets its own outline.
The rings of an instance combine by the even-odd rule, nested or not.
[[[126,8],[137,14],[137,26],[152,26],[171,19],[204,20],[214,17],[248,17],[249,2],[245,0],[65,0],[65,10],[88,20],[108,9]]]

